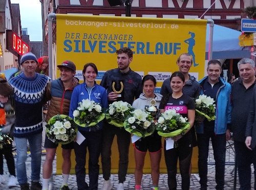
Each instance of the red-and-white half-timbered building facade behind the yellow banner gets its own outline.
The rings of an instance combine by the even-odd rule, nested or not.
[[[110,6],[125,0],[40,0],[42,4],[43,37],[48,41],[49,13],[125,16],[125,5]],[[212,19],[216,24],[241,30],[243,9],[255,6],[255,0],[130,0],[132,17]],[[53,27],[53,61],[56,64],[56,24]]]

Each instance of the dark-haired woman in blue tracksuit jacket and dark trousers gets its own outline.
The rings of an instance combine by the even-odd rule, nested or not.
[[[104,110],[108,107],[108,96],[106,90],[97,85],[95,79],[98,74],[98,69],[94,63],[84,65],[83,70],[84,83],[74,88],[69,116],[73,118],[73,112],[78,107],[78,103],[83,99],[94,100],[99,103]],[[102,122],[98,123],[98,128],[91,130],[91,127],[78,126],[78,131],[84,136],[85,140],[79,145],[74,143],[74,151],[76,156],[76,181],[78,190],[84,189],[98,189],[98,175],[99,175],[99,155],[101,150],[102,139]],[[86,178],[86,153],[89,151],[89,186],[85,181]]]

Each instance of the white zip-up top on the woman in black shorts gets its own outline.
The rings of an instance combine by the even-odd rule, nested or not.
[[[153,98],[146,98],[144,96],[145,93],[141,93],[140,94],[140,97],[136,100],[134,100],[133,102],[133,107],[135,109],[140,109],[140,110],[143,110],[145,109],[145,105],[148,105],[148,106],[151,106],[151,103],[150,101],[153,99]],[[160,104],[160,101],[162,99],[162,95],[161,94],[155,94],[155,100],[156,100],[156,104],[155,106],[157,106],[157,108],[159,108],[159,104]]]

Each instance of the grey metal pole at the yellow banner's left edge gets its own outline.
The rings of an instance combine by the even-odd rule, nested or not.
[[[53,77],[53,64],[52,64],[52,21],[56,18],[55,13],[50,13],[48,15],[48,58],[49,58],[49,77]]]

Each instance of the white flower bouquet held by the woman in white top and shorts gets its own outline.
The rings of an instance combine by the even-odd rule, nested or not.
[[[143,138],[153,134],[155,128],[152,116],[139,109],[131,112],[130,116],[124,121],[126,131]]]

